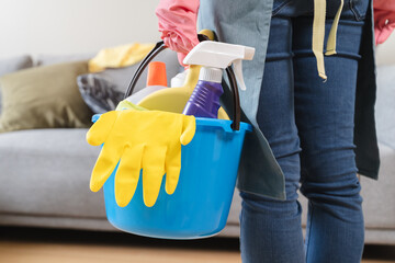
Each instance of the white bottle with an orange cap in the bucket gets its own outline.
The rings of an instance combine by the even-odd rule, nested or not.
[[[153,61],[148,64],[147,87],[126,98],[126,101],[137,104],[150,93],[166,88],[166,64],[161,61]]]

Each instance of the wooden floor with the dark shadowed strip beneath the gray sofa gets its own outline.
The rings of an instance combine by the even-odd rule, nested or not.
[[[126,233],[0,228],[1,263],[236,263],[237,239],[169,241]],[[395,247],[365,247],[363,263],[395,262]]]

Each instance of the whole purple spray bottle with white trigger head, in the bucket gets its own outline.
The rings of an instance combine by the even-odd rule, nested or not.
[[[242,78],[241,60],[251,60],[253,47],[205,41],[196,45],[184,58],[185,65],[200,65],[199,81],[190,96],[183,114],[195,117],[216,118],[219,108],[219,96],[223,94],[223,69],[232,64],[238,84],[246,90]]]

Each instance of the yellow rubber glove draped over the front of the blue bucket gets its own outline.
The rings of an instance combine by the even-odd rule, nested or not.
[[[117,162],[115,199],[126,206],[136,190],[143,169],[143,198],[154,206],[166,175],[166,192],[176,191],[181,169],[181,144],[195,133],[195,118],[159,111],[112,111],[100,116],[87,133],[87,141],[103,148],[94,164],[90,188],[99,191]]]

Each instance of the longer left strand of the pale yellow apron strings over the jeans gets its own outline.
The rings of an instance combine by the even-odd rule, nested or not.
[[[324,64],[326,0],[314,0],[312,49],[317,60],[318,76],[327,79]]]

